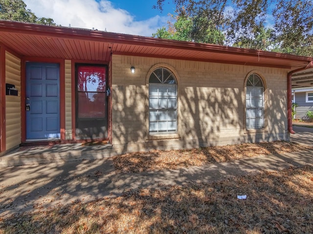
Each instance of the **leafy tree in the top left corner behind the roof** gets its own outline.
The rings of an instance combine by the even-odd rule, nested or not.
[[[55,25],[51,18],[36,17],[22,0],[0,0],[0,19]]]

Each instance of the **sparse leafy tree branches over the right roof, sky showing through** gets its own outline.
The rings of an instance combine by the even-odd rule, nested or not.
[[[162,11],[166,1],[157,0],[154,7]],[[226,45],[313,56],[312,0],[172,1],[178,16],[184,13],[197,25],[193,39],[223,32]]]

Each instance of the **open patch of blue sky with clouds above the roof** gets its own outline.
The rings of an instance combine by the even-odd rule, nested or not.
[[[167,25],[174,5],[164,4],[163,13],[153,9],[156,0],[24,0],[37,17],[52,18],[62,26],[151,37]],[[169,2],[172,2],[171,0]]]

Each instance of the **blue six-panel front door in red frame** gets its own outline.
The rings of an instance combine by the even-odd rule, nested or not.
[[[26,139],[60,137],[60,68],[26,63]]]

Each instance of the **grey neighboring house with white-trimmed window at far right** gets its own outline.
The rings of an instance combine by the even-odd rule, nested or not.
[[[313,111],[313,88],[292,88],[291,99],[297,103],[295,119],[306,118],[308,111]]]

